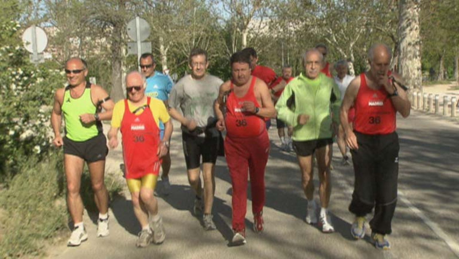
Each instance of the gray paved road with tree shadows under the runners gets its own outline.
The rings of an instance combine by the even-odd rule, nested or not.
[[[436,119],[433,119],[436,118]],[[273,120],[274,121],[274,120]],[[330,211],[336,232],[322,234],[303,221],[306,201],[300,173],[293,153],[281,152],[276,130],[269,131],[271,154],[266,171],[265,231],[257,235],[252,228],[251,203],[247,204],[247,244],[227,247],[231,238],[231,185],[223,158],[216,169],[213,212],[218,230],[205,232],[190,209],[194,195],[187,182],[181,137],[175,127],[172,140],[172,193],[159,197],[167,238],[160,245],[135,248],[140,230],[129,196],[111,203],[110,236],[96,238],[96,226],[85,213],[89,239],[80,247],[53,247],[50,258],[459,258],[459,125],[437,117],[413,112],[399,118],[401,142],[400,195],[393,233],[392,250],[376,250],[368,236],[354,241],[349,228],[353,216],[347,211],[352,184],[352,167],[341,167],[335,145],[333,190]],[[175,125],[177,126],[177,125]],[[116,171],[120,150],[110,152],[108,170]],[[317,175],[315,185],[318,186]],[[161,184],[159,184],[161,187]],[[316,199],[317,191],[316,191]],[[70,233],[69,233],[70,234]],[[369,233],[368,233],[369,234]]]

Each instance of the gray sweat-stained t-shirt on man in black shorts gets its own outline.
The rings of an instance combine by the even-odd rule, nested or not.
[[[182,114],[195,120],[197,127],[207,127],[217,120],[213,103],[222,84],[221,79],[209,74],[200,80],[185,75],[172,88],[169,106],[175,109],[180,106]]]

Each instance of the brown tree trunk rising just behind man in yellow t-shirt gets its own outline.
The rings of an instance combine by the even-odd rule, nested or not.
[[[122,71],[122,31],[123,24],[116,23],[113,26],[112,44],[110,50],[112,51],[112,91],[110,93],[114,102],[124,98],[123,92],[123,71]]]

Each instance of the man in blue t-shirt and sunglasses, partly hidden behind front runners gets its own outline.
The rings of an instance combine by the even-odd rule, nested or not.
[[[169,92],[171,91],[174,83],[169,76],[155,71],[156,63],[151,53],[143,53],[140,56],[139,63],[142,74],[146,77],[145,95],[162,100],[166,107],[168,107]],[[162,139],[162,136],[164,135],[164,125],[162,122],[159,123],[159,129],[161,130],[160,137]],[[169,151],[167,155],[162,157],[161,167],[163,192],[167,195],[170,192],[169,170],[171,168],[171,156]]]

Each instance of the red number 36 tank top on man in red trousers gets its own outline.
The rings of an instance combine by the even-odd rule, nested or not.
[[[253,102],[255,106],[260,107],[253,91],[256,81],[257,78],[252,76],[252,82],[245,96],[238,98],[234,91],[231,91],[226,99],[225,127],[229,137],[251,138],[265,130],[266,124],[261,117],[242,110],[244,101]],[[233,82],[230,87],[233,89]]]

